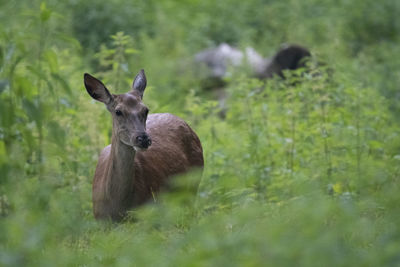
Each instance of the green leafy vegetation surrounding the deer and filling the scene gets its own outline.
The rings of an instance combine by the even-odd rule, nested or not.
[[[395,0],[0,2],[0,265],[398,266],[398,14]],[[221,119],[190,64],[220,42],[298,43],[325,67],[233,73]],[[111,120],[82,76],[122,93],[141,68],[151,112],[198,133],[204,173],[98,223]]]

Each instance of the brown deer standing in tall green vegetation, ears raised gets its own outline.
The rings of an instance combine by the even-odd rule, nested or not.
[[[111,145],[99,156],[93,179],[96,219],[122,220],[127,211],[149,200],[169,177],[202,168],[203,149],[196,133],[182,119],[149,109],[142,98],[146,76],[141,70],[125,94],[110,94],[85,73],[87,92],[111,113]]]

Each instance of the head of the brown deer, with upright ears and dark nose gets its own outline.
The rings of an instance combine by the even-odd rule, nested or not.
[[[146,133],[149,109],[142,102],[147,84],[144,70],[136,75],[131,91],[125,94],[110,94],[101,81],[88,73],[84,75],[84,82],[89,95],[103,102],[111,113],[113,136],[137,151],[146,150],[151,145],[151,138]]]

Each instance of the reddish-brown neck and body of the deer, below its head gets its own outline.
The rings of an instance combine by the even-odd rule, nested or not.
[[[153,140],[148,150],[135,152],[112,138],[112,144],[101,153],[93,180],[96,219],[118,221],[129,209],[149,200],[169,177],[203,167],[200,140],[182,119],[167,113],[152,114],[147,119],[147,132]],[[118,158],[123,155],[127,161]],[[115,168],[119,160],[123,162]]]

